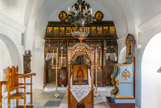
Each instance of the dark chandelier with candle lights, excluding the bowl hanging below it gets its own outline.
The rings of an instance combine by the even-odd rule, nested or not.
[[[80,28],[93,21],[92,8],[84,0],[77,0],[77,3],[72,6],[72,10],[68,7],[66,22]]]

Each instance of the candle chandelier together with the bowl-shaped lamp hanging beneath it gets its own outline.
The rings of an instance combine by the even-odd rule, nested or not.
[[[77,27],[76,30],[72,31],[72,36],[79,39],[81,42],[83,39],[87,38],[90,32],[85,28],[85,25],[88,25],[93,21],[92,8],[90,8],[90,5],[84,0],[77,0],[77,3],[72,6],[72,10],[68,7],[66,22]]]

